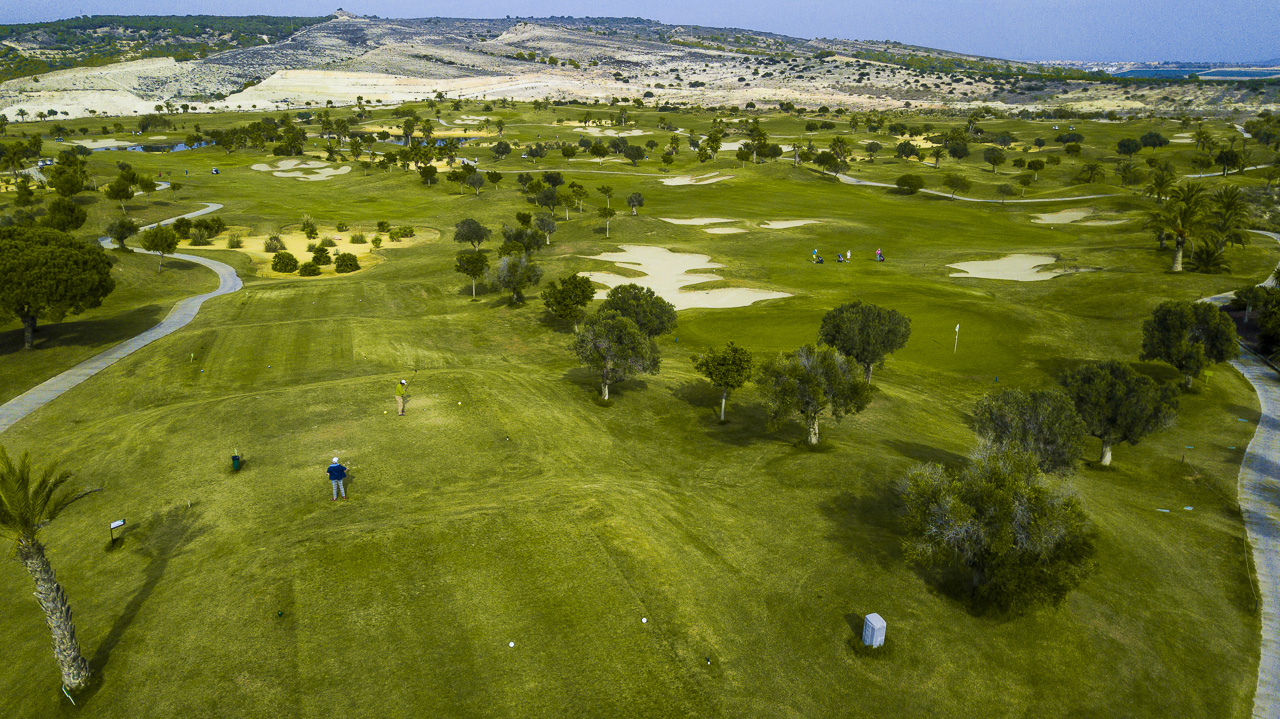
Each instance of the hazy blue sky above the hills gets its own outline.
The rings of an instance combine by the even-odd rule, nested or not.
[[[15,0],[0,6],[0,22],[81,14],[324,15],[338,5],[384,18],[641,15],[796,37],[897,40],[1020,60],[1280,58],[1277,0]]]

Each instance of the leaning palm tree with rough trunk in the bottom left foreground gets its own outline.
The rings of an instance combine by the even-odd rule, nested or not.
[[[45,622],[54,638],[54,656],[63,672],[63,684],[78,690],[88,681],[88,661],[81,654],[72,623],[67,594],[54,577],[54,568],[45,557],[45,546],[36,535],[78,499],[97,491],[68,489],[59,493],[70,473],[49,464],[40,478],[32,481],[31,455],[23,453],[17,464],[0,448],[0,531],[17,539],[18,560],[36,582],[36,600],[45,610]],[[58,496],[54,496],[54,495]]]

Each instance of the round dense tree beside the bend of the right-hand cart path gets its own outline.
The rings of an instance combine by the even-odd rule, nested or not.
[[[1235,322],[1208,302],[1162,302],[1142,324],[1138,358],[1172,365],[1188,389],[1210,365],[1236,354]]]

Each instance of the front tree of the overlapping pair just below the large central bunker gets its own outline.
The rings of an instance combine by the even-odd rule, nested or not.
[[[658,343],[640,331],[634,321],[613,310],[600,308],[582,322],[570,351],[579,361],[600,374],[600,397],[609,398],[609,385],[640,372],[657,375],[662,365]]]

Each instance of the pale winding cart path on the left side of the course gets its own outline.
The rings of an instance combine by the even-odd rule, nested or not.
[[[200,215],[207,215],[209,212],[223,209],[221,205],[215,202],[205,202],[204,205],[204,210],[187,212],[186,215],[179,215],[178,217],[169,217],[168,220],[161,220],[157,224],[168,225],[179,217],[198,217]],[[154,226],[155,225],[152,224],[142,229],[150,229]],[[104,237],[99,239],[99,242],[101,242],[104,247],[111,246],[110,238]],[[146,252],[145,249],[134,249],[134,252],[155,255],[155,252]],[[36,409],[40,409],[54,399],[58,399],[67,390],[110,367],[124,357],[128,357],[152,342],[184,328],[187,322],[191,322],[191,320],[196,317],[196,312],[200,311],[200,306],[204,304],[210,297],[229,294],[242,287],[239,276],[230,265],[218,262],[216,260],[196,257],[195,255],[170,255],[170,257],[196,262],[197,265],[204,265],[218,273],[218,289],[178,301],[178,303],[169,310],[169,315],[161,320],[159,325],[142,334],[134,335],[133,338],[129,338],[120,344],[116,344],[115,347],[81,362],[79,365],[76,365],[70,370],[67,370],[65,372],[56,375],[4,403],[0,406],[0,432],[8,430],[27,415],[31,415]]]

